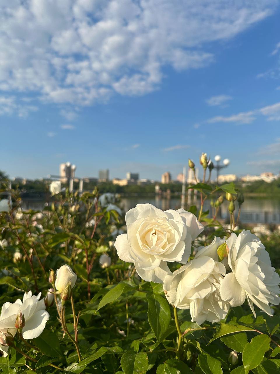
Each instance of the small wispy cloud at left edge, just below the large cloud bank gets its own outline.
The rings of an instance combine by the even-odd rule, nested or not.
[[[15,96],[0,96],[0,115],[16,114],[18,117],[27,117],[29,112],[37,111],[35,105],[20,104]]]

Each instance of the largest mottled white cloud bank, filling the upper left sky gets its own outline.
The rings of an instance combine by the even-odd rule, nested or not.
[[[91,105],[158,89],[164,67],[200,68],[212,42],[266,18],[276,0],[0,1],[0,91]],[[210,52],[209,52],[210,50]],[[68,120],[75,112],[62,116]]]

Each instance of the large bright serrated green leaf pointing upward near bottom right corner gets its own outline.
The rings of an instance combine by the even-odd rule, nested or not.
[[[269,350],[269,345],[270,337],[265,334],[255,336],[251,343],[246,344],[242,355],[245,374],[262,362],[265,352]]]

